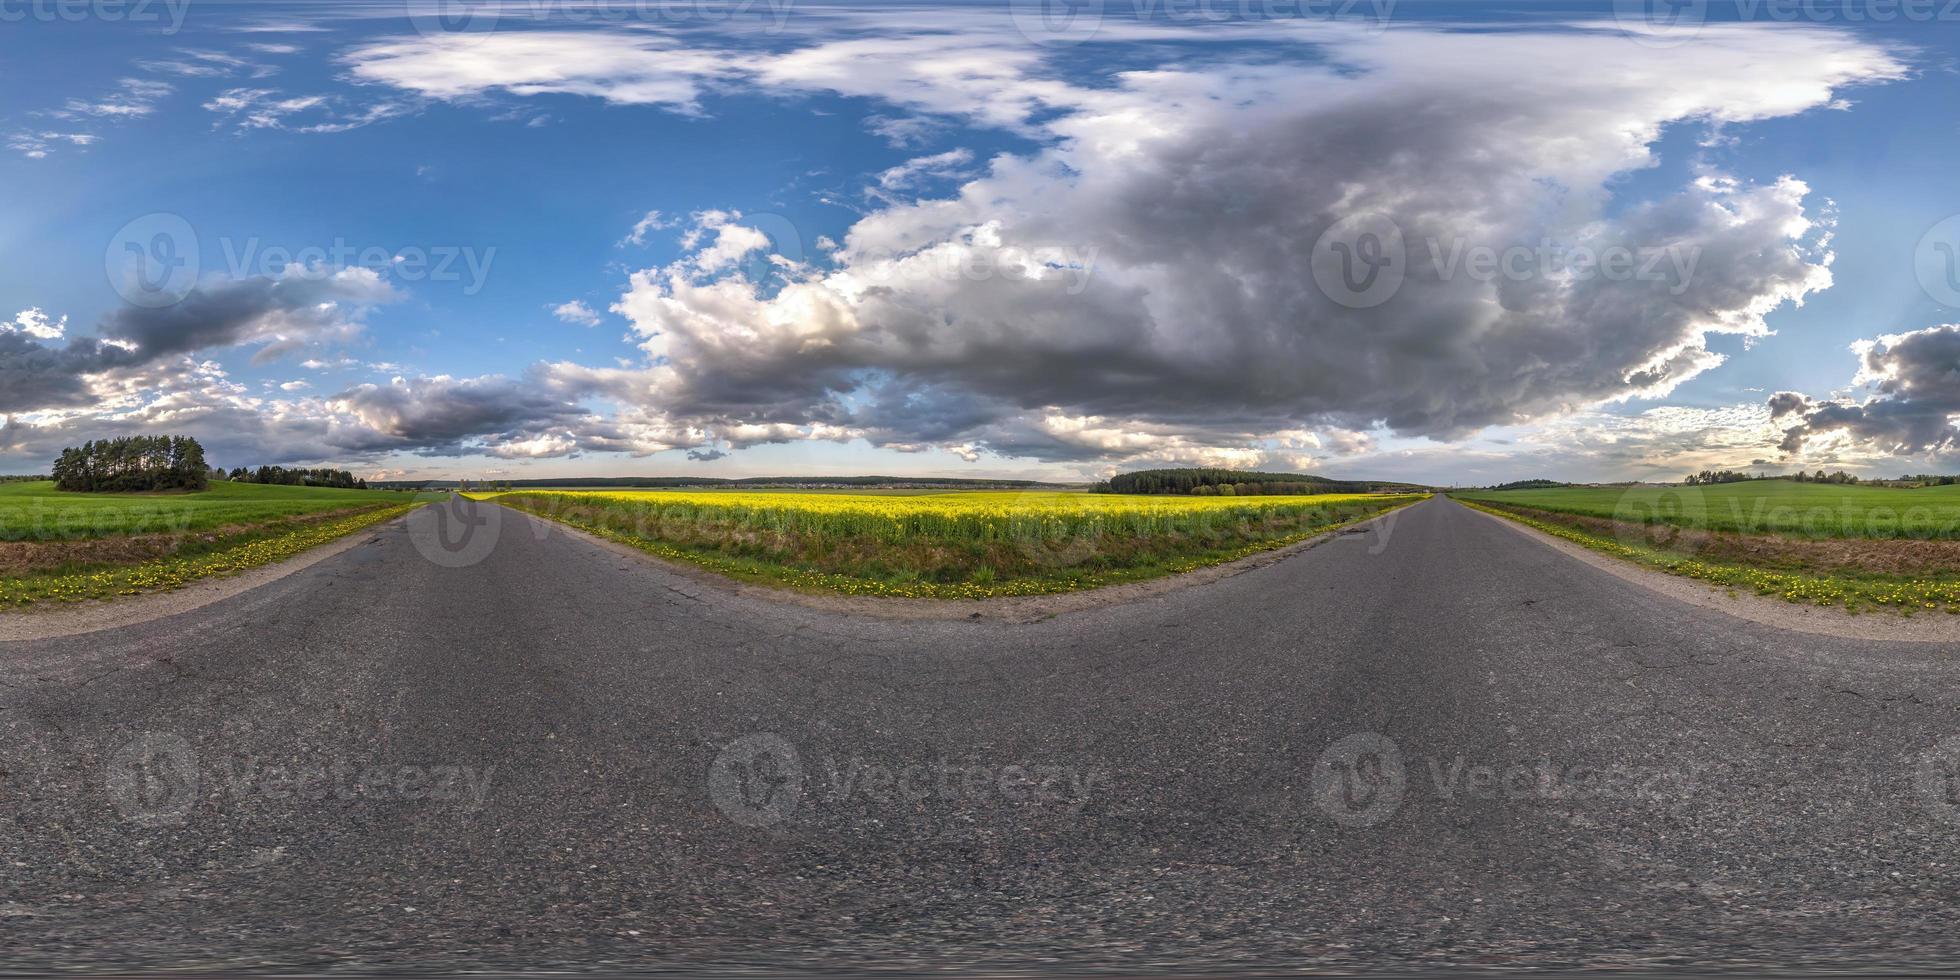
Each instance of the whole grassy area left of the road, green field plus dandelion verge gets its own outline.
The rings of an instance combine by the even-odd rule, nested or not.
[[[0,484],[0,608],[159,592],[233,574],[439,496],[231,482],[194,494]]]

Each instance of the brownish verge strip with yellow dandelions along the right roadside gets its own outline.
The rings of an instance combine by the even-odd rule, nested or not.
[[[1615,521],[1490,500],[1454,500],[1592,551],[1731,590],[1750,590],[1758,596],[1778,596],[1809,606],[1842,606],[1846,612],[1886,608],[1907,615],[1929,610],[1960,613],[1960,566],[1952,563],[1913,566],[1907,574],[1870,570],[1846,563],[1842,559],[1846,553],[1840,547],[1817,547],[1815,541],[1735,531],[1682,533],[1680,527],[1660,523]],[[1884,543],[1860,541],[1860,545],[1882,547]],[[1901,541],[1899,545],[1915,543]],[[1936,545],[1944,545],[1944,541]]]

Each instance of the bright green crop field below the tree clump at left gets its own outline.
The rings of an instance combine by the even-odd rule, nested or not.
[[[0,541],[194,533],[406,500],[388,490],[321,486],[214,482],[196,494],[63,494],[51,482],[12,482],[0,484]]]

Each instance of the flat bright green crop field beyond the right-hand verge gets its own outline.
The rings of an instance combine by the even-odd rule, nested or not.
[[[1960,539],[1960,486],[1889,486],[1750,480],[1713,486],[1562,486],[1454,494],[1633,523],[1707,531],[1862,539]]]

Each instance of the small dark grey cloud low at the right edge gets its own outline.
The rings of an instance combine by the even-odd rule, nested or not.
[[[1795,419],[1784,429],[1784,453],[1913,457],[1960,449],[1960,323],[1887,333],[1852,351],[1852,384],[1866,388],[1862,400],[1809,400],[1797,392],[1770,398],[1774,417]]]

